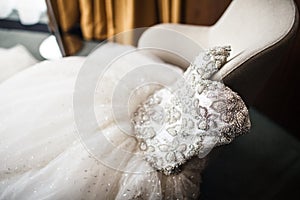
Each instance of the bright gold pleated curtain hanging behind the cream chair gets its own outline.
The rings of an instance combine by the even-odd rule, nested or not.
[[[157,23],[178,23],[182,0],[52,0],[63,32],[80,24],[84,39],[106,39]]]

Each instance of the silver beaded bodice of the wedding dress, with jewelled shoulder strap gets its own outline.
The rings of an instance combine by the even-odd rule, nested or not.
[[[193,156],[204,157],[250,129],[241,97],[209,78],[229,56],[230,47],[200,53],[170,88],[163,88],[139,106],[133,116],[135,136],[144,158],[166,175]]]

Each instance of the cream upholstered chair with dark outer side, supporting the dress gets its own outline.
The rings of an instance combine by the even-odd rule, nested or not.
[[[212,26],[159,24],[142,34],[138,46],[163,49],[156,54],[184,68],[202,49],[231,45],[229,62],[213,79],[223,80],[251,105],[297,27],[293,0],[233,0]]]

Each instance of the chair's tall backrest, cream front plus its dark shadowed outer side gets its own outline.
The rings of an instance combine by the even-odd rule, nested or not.
[[[223,81],[251,104],[298,27],[293,0],[233,0],[210,28],[209,45],[230,44],[232,60],[213,79]]]

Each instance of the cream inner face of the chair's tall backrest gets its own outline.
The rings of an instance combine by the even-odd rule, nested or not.
[[[292,0],[233,0],[211,27],[209,45],[233,46],[232,55],[261,51],[281,40],[295,21]]]

